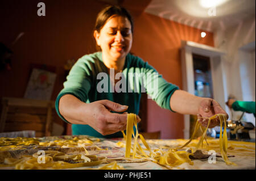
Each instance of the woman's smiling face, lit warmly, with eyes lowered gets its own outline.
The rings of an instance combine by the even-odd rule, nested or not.
[[[113,15],[100,33],[94,31],[94,37],[106,57],[114,61],[123,60],[130,52],[133,42],[131,23],[127,18]]]

